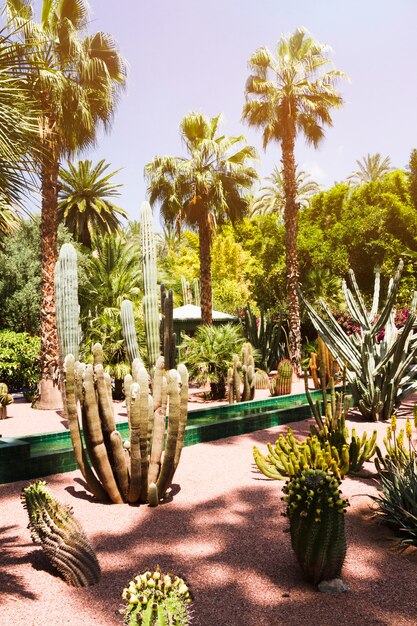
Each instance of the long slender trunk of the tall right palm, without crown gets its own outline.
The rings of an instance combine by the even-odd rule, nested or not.
[[[285,192],[284,224],[285,224],[285,261],[287,270],[287,297],[289,306],[288,342],[290,360],[296,372],[301,373],[301,322],[300,302],[297,285],[299,280],[297,232],[298,232],[298,204],[297,185],[295,176],[295,128],[284,135],[281,142],[282,165]]]

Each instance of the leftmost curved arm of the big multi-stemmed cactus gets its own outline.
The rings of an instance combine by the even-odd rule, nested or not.
[[[78,412],[77,412],[77,400],[75,395],[76,389],[76,379],[75,379],[75,361],[72,354],[68,354],[65,357],[64,361],[64,372],[65,372],[65,395],[66,402],[65,408],[69,423],[69,430],[71,436],[72,446],[74,448],[75,460],[77,461],[77,465],[80,468],[81,474],[83,475],[87,487],[89,491],[98,499],[98,500],[107,500],[108,496],[106,491],[103,489],[100,482],[97,480],[94,475],[89,463],[88,458],[84,450],[84,446],[81,439],[80,432],[80,423],[78,421]]]

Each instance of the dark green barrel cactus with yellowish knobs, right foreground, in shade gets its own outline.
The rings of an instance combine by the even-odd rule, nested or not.
[[[346,555],[347,500],[331,472],[307,469],[285,483],[283,500],[291,545],[306,579],[313,584],[338,578]]]

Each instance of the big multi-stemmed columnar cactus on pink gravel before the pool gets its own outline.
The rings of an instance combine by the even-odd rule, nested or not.
[[[123,445],[116,430],[111,384],[103,369],[100,344],[93,347],[94,365],[65,358],[66,410],[75,457],[90,491],[112,502],[149,502],[155,506],[172,482],[184,444],[187,422],[188,373],[184,365],[165,373],[157,361],[149,393],[149,376],[140,361],[125,379],[130,440]],[[77,401],[88,457],[84,450]],[[168,405],[168,434],[164,448]]]

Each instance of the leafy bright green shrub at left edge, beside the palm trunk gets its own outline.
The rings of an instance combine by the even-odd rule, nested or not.
[[[34,391],[40,380],[41,340],[28,333],[0,331],[0,380],[10,389]]]

